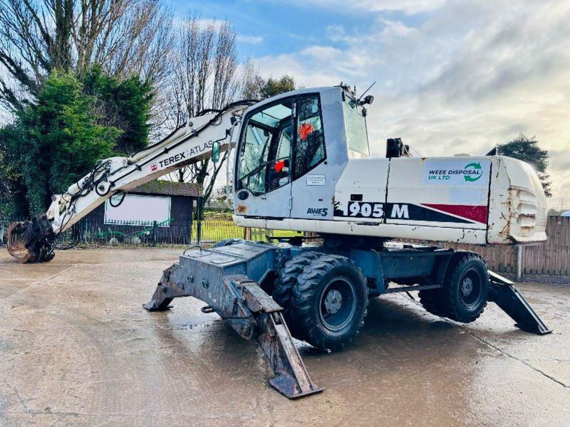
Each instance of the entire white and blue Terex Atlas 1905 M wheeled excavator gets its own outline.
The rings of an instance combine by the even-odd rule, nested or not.
[[[531,167],[498,155],[409,157],[398,139],[388,141],[386,158],[370,158],[372,100],[340,85],[207,110],[131,157],[97,163],[54,195],[45,215],[11,224],[9,251],[20,262],[49,261],[59,233],[105,199],[235,147],[235,170],[227,170],[235,223],[315,232],[322,243],[229,240],[185,251],[144,308],[201,299],[203,311],[259,343],[275,372],[270,383],[284,395],[321,391],[291,334],[343,348],[363,325],[368,299],[382,293],[419,290],[427,311],[458,322],[474,321],[493,301],[521,329],[549,332],[478,254],[389,241],[545,241],[545,197]]]

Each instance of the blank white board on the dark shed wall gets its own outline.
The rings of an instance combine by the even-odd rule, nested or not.
[[[113,204],[120,202],[121,196],[113,196]],[[112,207],[109,199],[105,201],[105,224],[146,223],[157,221],[161,227],[168,227],[170,219],[170,198],[127,194],[123,203]]]

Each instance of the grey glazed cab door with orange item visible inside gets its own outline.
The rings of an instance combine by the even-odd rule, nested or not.
[[[237,153],[235,213],[283,219],[291,211],[295,98],[262,105],[244,118]]]

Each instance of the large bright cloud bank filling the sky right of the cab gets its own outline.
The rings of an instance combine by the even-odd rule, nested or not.
[[[377,80],[368,117],[378,155],[388,137],[442,155],[484,154],[519,132],[536,135],[552,153],[553,199],[570,200],[570,2],[458,0],[435,2],[434,9],[431,2],[361,0],[356,6],[384,10],[396,3],[406,13],[431,9],[429,18],[410,27],[379,17],[367,32],[331,25],[325,36],[335,47],[320,40],[259,58],[260,71],[291,73],[306,87],[344,80],[364,88]]]

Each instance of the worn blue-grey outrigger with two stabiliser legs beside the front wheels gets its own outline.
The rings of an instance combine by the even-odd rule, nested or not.
[[[181,256],[180,262],[164,271],[151,301],[143,307],[161,311],[169,308],[173,298],[201,299],[209,305],[203,313],[215,311],[239,335],[259,344],[275,375],[269,380],[272,387],[289,399],[323,391],[311,381],[281,314],[282,307],[243,274],[223,274],[219,266],[223,255],[217,256],[218,265]]]

